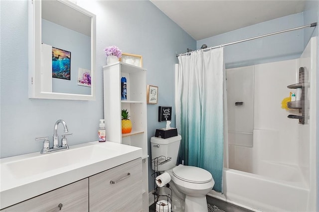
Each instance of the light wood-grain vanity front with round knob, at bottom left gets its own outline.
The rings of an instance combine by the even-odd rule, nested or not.
[[[88,195],[88,178],[86,178],[10,206],[1,212],[87,212]],[[59,204],[62,204],[61,211]]]

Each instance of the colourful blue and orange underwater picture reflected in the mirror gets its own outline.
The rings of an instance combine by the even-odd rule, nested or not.
[[[71,52],[52,47],[52,77],[71,80]]]

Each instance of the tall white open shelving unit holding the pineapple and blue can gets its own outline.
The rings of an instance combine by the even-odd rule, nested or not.
[[[142,148],[143,210],[149,211],[146,69],[117,62],[103,66],[104,119],[108,141]],[[127,79],[127,101],[121,101],[121,78]],[[121,110],[130,112],[132,132],[122,134]]]

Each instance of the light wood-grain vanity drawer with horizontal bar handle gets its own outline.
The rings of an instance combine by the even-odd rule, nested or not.
[[[141,158],[89,177],[89,185],[90,212],[142,211]]]

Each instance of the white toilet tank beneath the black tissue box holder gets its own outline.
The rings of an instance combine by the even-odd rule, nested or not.
[[[151,138],[151,153],[152,153],[152,169],[155,169],[153,159],[164,156],[165,158],[171,157],[171,160],[158,166],[158,170],[156,171],[166,171],[168,169],[173,168],[177,163],[177,156],[179,150],[179,143],[181,140],[181,136],[173,136],[170,138]]]

